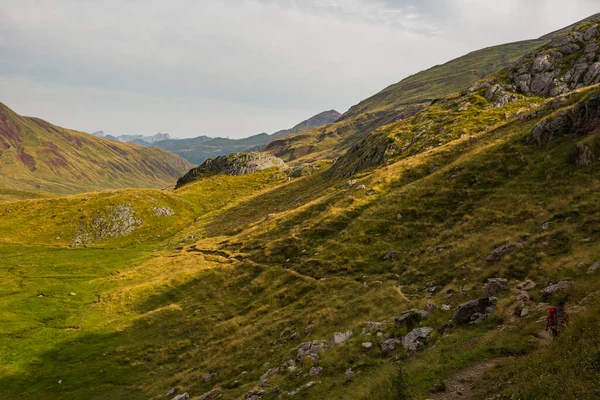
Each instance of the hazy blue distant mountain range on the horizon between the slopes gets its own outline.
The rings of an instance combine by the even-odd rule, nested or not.
[[[194,164],[201,164],[209,158],[259,150],[274,140],[333,123],[341,115],[335,110],[324,111],[300,122],[293,128],[283,129],[270,135],[268,133],[259,133],[243,139],[213,138],[209,136],[198,136],[191,139],[172,139],[168,133],[157,133],[153,136],[111,136],[106,135],[103,131],[95,132],[92,135],[119,142],[131,142],[142,146],[159,147],[175,153]]]

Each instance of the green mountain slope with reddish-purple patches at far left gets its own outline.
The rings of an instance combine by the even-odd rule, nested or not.
[[[170,186],[192,167],[157,148],[23,117],[0,103],[0,187],[54,193]]]

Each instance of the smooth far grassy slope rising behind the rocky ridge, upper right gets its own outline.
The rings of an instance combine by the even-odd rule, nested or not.
[[[510,43],[469,53],[412,75],[360,102],[337,122],[271,143],[267,150],[298,163],[335,158],[373,130],[407,118],[432,100],[457,92],[516,61],[549,38]]]

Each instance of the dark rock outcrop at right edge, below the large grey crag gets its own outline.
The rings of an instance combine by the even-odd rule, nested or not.
[[[538,122],[527,142],[546,146],[559,136],[578,138],[589,135],[600,126],[600,95],[595,95],[576,106],[563,110]]]

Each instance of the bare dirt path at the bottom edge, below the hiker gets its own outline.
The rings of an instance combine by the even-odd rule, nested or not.
[[[495,367],[506,358],[496,358],[486,360],[468,366],[459,371],[454,376],[446,379],[446,391],[432,395],[434,400],[469,400],[475,399],[473,396],[473,386],[490,368]]]

